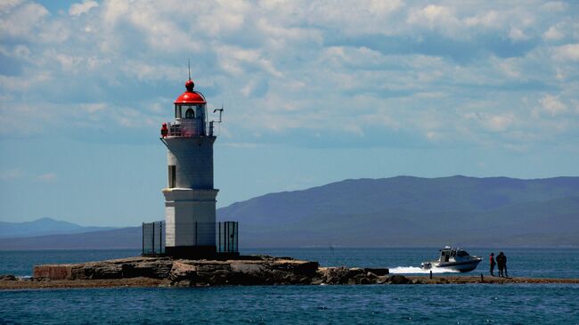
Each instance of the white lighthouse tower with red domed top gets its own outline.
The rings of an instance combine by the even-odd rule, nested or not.
[[[213,188],[213,122],[191,77],[175,100],[175,121],[161,127],[167,145],[165,253],[176,257],[216,255],[216,196]],[[217,236],[217,239],[220,237]]]

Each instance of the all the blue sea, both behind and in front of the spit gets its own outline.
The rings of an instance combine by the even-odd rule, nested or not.
[[[488,274],[497,248],[468,275]],[[579,278],[578,248],[503,248],[509,275]],[[134,249],[0,251],[0,274],[29,277],[35,264],[138,256]],[[255,248],[324,266],[424,272],[438,248]],[[439,276],[444,276],[444,270]],[[426,273],[426,272],[424,272]],[[457,275],[453,273],[452,275]],[[579,324],[577,284],[231,286],[0,291],[0,324]]]

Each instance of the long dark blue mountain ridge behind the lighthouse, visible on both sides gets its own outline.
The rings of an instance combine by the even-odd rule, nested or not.
[[[241,248],[579,247],[579,177],[345,180],[237,202],[217,218],[239,221]],[[0,249],[79,244],[140,248],[141,230],[0,239]]]

